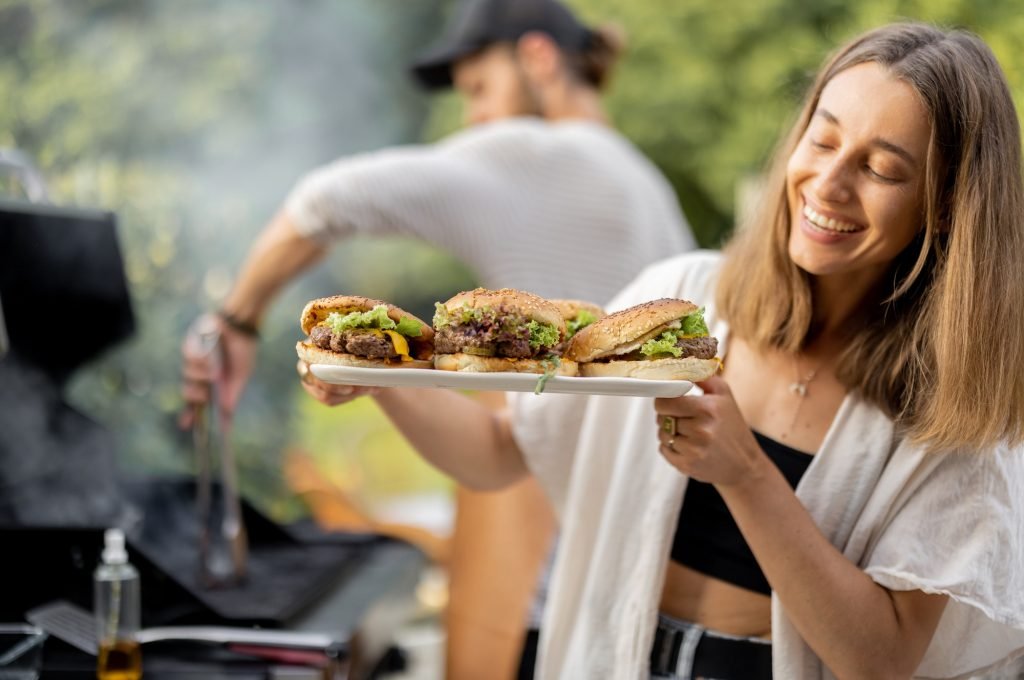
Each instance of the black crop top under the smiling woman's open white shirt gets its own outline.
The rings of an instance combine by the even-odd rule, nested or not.
[[[813,456],[791,449],[759,432],[755,438],[794,488]],[[771,587],[718,491],[690,479],[679,513],[672,559],[691,569],[765,595]]]

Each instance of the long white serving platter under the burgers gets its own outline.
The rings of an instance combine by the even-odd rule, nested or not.
[[[324,382],[361,387],[435,387],[498,392],[532,392],[540,376],[531,373],[461,373],[433,369],[366,369],[312,364],[309,371]],[[639,378],[568,378],[553,376],[544,393],[610,394],[612,396],[682,396],[693,383],[686,380]]]

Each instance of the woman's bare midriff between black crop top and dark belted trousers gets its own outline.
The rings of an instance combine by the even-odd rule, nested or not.
[[[670,561],[662,613],[705,628],[749,637],[771,637],[771,598]]]

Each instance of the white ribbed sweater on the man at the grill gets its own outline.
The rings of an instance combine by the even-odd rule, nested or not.
[[[285,209],[311,238],[411,236],[455,254],[485,287],[597,302],[694,246],[664,176],[587,121],[509,119],[346,158],[307,175]]]

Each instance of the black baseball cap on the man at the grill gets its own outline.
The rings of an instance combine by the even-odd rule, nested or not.
[[[463,0],[440,41],[413,62],[413,75],[427,89],[452,87],[453,63],[530,31],[570,52],[585,50],[591,40],[590,29],[555,0]]]

